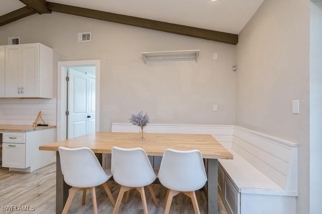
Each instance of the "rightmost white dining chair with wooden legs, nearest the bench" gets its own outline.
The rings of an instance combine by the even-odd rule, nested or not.
[[[157,177],[168,188],[164,213],[169,213],[173,197],[181,192],[191,198],[195,213],[200,213],[195,191],[205,185],[207,175],[199,150],[167,149]]]

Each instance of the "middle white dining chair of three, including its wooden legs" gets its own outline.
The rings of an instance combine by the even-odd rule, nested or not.
[[[151,185],[156,179],[156,175],[143,149],[124,149],[113,147],[111,171],[113,179],[121,185],[113,214],[118,213],[124,193],[127,192],[125,198],[125,200],[127,200],[128,191],[131,189],[136,189],[141,194],[143,210],[144,213],[147,214],[144,186],[147,186],[155,206],[158,206],[158,202]]]

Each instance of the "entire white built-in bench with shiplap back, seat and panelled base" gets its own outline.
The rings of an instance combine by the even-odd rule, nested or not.
[[[231,143],[219,142],[233,155],[218,160],[218,193],[229,214],[296,213],[297,144],[237,126]]]

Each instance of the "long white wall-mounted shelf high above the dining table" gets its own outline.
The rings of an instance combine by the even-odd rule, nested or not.
[[[200,50],[142,52],[144,63],[152,60],[195,59],[198,62]]]

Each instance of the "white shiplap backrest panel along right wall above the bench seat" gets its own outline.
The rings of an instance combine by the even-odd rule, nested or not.
[[[235,126],[232,150],[284,190],[297,192],[297,144]]]

